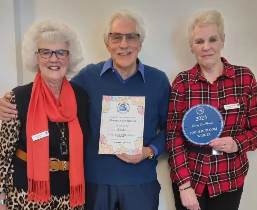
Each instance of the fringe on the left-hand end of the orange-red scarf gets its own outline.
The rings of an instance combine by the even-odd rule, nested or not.
[[[28,179],[28,198],[27,201],[36,203],[47,203],[50,201],[50,183],[47,181],[35,181]]]

